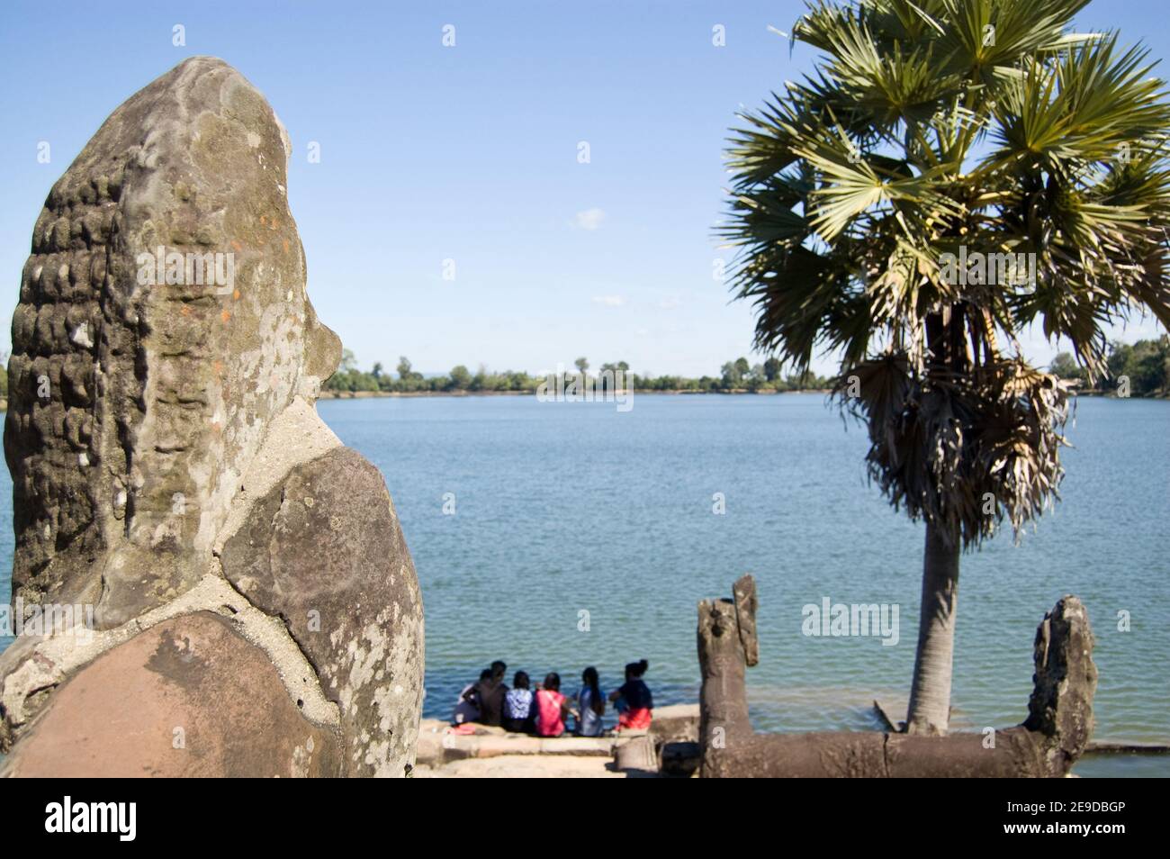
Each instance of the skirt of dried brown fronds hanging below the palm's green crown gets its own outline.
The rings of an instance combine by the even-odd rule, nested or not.
[[[1019,532],[1058,497],[1068,392],[1023,360],[925,378],[888,353],[839,377],[835,393],[865,421],[869,476],[890,503],[964,547],[1005,521]]]

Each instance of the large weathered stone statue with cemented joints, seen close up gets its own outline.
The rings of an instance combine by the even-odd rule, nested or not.
[[[94,628],[0,654],[9,775],[413,765],[421,596],[380,474],[314,406],[340,344],[290,152],[248,81],[192,57],[44,202],[8,365],[14,609]]]

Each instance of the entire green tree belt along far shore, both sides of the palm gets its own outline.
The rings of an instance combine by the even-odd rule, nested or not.
[[[1078,393],[1115,394],[1121,378],[1129,379],[1130,397],[1165,397],[1170,393],[1170,336],[1158,339],[1137,341],[1133,345],[1112,343],[1108,357],[1109,376],[1090,385],[1085,367],[1069,352],[1060,352],[1053,358],[1048,371],[1073,383]],[[589,372],[589,362],[574,362],[579,373]],[[345,350],[337,372],[325,383],[324,397],[346,396],[461,396],[461,394],[528,394],[536,393],[537,386],[548,376],[530,376],[524,371],[489,371],[486,366],[473,373],[460,364],[446,376],[424,376],[415,372],[404,356],[398,362],[397,378],[386,372],[383,364],[369,371],[358,370],[353,352]],[[2,371],[2,369],[0,369]],[[656,393],[785,393],[789,391],[827,391],[833,380],[812,372],[803,374],[783,373],[780,362],[769,358],[751,365],[746,358],[729,360],[718,376],[701,376],[697,379],[683,376],[642,376],[629,372],[626,362],[603,364],[600,373],[621,372],[631,390]],[[0,377],[0,391],[7,396],[7,379]],[[600,390],[600,389],[599,389]]]

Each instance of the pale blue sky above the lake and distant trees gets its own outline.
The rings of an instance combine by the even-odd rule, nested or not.
[[[359,365],[550,370],[587,356],[716,374],[751,309],[713,277],[723,139],[739,106],[811,68],[799,2],[5,2],[0,344],[48,190],[132,92],[223,57],[294,144],[309,295]],[[1097,2],[1170,57],[1158,0]],[[173,42],[173,27],[186,44]],[[455,46],[442,44],[453,25]],[[725,47],[711,43],[725,28]],[[1163,76],[1170,74],[1162,70]],[[37,145],[51,162],[39,164]],[[590,163],[578,160],[579,142]],[[309,144],[321,147],[309,163]],[[443,279],[445,260],[455,279]],[[1151,336],[1135,321],[1126,339]],[[1044,362],[1054,349],[1026,342]],[[831,360],[815,365],[830,370]]]

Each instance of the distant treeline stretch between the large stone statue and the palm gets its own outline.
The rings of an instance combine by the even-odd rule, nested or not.
[[[590,365],[585,358],[573,362],[578,373],[589,374]],[[384,391],[387,393],[452,393],[452,392],[490,392],[519,391],[535,392],[537,386],[548,379],[546,376],[529,376],[526,372],[491,372],[484,366],[473,373],[460,364],[446,376],[425,377],[415,372],[411,362],[404,356],[398,362],[398,376],[387,373],[381,364],[374,364],[370,371],[358,370],[353,352],[342,353],[342,364],[332,378],[325,383],[326,391]],[[618,377],[618,373],[621,373]],[[702,376],[690,379],[682,376],[641,376],[629,371],[629,365],[619,360],[603,364],[599,367],[601,378],[621,378],[625,386],[635,391],[805,391],[828,387],[828,379],[807,372],[803,376],[780,372],[780,362],[769,358],[763,364],[751,365],[746,358],[729,360],[718,376]]]

